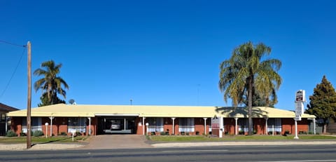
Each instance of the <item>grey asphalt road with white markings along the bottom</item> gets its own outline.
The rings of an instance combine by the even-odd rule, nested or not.
[[[335,145],[0,151],[0,161],[336,161]]]

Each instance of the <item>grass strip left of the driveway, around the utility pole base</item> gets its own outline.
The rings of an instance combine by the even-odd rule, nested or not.
[[[73,138],[71,136],[55,136],[55,137],[48,137],[45,136],[41,137],[31,137],[32,143],[48,143],[48,142],[79,142],[86,140],[87,136],[76,136]],[[13,143],[22,143],[27,142],[27,137],[1,137],[0,143],[5,142],[13,142]]]

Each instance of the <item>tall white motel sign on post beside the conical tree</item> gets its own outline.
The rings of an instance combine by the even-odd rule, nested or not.
[[[297,90],[295,93],[295,137],[294,139],[299,139],[297,137],[297,121],[301,121],[301,115],[304,112],[303,102],[306,102],[306,96],[304,90]]]

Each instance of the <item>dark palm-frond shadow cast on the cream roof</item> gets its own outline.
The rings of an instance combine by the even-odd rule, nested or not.
[[[216,107],[216,112],[224,114],[226,117],[244,116],[248,118],[248,107]],[[259,107],[252,108],[252,118],[268,118],[268,112]]]

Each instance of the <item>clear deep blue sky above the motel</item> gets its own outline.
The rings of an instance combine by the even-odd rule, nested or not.
[[[308,100],[323,75],[336,83],[334,1],[0,1],[0,20],[0,40],[31,41],[33,71],[62,63],[77,104],[230,106],[219,65],[247,41],[282,62],[277,108],[294,110],[296,90]],[[0,43],[0,60],[0,102],[25,109],[26,51]]]

